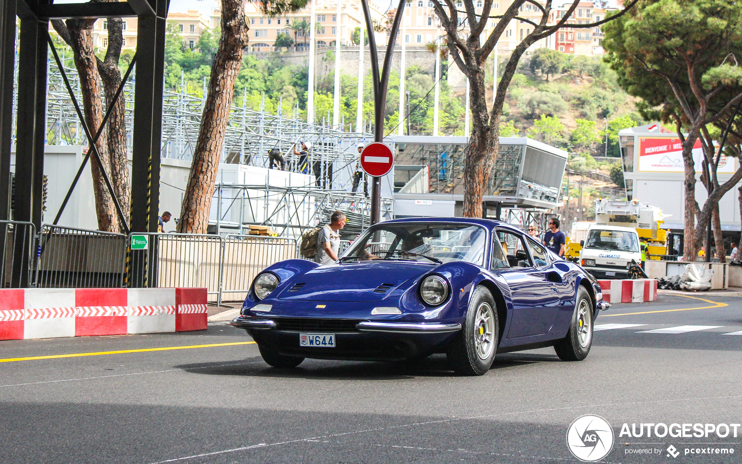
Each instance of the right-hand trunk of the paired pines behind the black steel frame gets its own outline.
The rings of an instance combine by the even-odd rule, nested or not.
[[[121,85],[121,71],[119,71],[119,56],[123,45],[121,18],[108,19],[108,50],[105,59],[97,60],[98,70],[105,89],[105,108],[111,105],[116,97],[116,91]],[[105,113],[104,113],[105,114]],[[124,93],[119,95],[116,105],[106,122],[108,129],[108,153],[111,159],[111,184],[114,194],[119,200],[124,217],[128,220],[131,209],[131,182],[129,181],[129,166],[126,157],[126,99]],[[119,231],[123,232],[123,230]]]

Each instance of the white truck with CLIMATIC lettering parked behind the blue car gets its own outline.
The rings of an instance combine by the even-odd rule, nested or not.
[[[591,224],[580,245],[580,265],[595,278],[628,278],[631,260],[642,261],[639,234],[633,227]]]

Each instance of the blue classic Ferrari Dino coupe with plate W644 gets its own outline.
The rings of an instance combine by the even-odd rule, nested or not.
[[[456,372],[482,375],[496,353],[554,346],[585,359],[609,306],[588,272],[507,223],[410,218],[371,226],[335,264],[263,270],[232,325],[275,367],[446,353]]]

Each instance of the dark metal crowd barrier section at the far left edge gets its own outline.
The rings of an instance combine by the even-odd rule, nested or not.
[[[36,226],[19,220],[0,220],[0,286],[33,284],[36,261]]]

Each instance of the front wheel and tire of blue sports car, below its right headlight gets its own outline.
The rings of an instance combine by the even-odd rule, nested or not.
[[[488,315],[488,319],[483,316]],[[499,344],[499,321],[492,293],[476,287],[462,325],[446,350],[453,370],[462,376],[482,376],[490,370]]]

